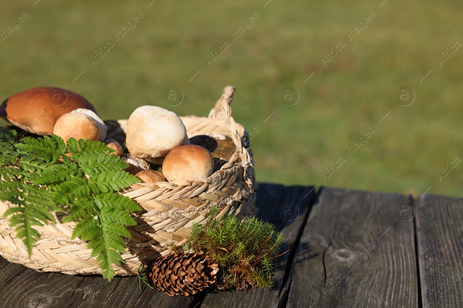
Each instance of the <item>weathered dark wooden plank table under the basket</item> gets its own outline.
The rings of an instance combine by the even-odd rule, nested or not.
[[[463,307],[463,199],[273,184],[257,196],[257,216],[290,248],[272,289],[167,296],[140,291],[137,277],[106,283],[0,258],[0,307]]]

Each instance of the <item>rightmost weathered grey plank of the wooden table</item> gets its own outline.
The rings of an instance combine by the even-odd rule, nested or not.
[[[463,307],[463,199],[425,195],[416,211],[423,307]]]

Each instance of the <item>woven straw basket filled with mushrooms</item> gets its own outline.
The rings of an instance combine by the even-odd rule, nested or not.
[[[252,152],[244,146],[248,138],[244,127],[235,123],[229,104],[235,88],[225,87],[209,117],[181,117],[188,137],[224,134],[232,138],[236,151],[231,160],[206,179],[197,181],[134,184],[121,194],[133,198],[144,209],[135,213],[138,225],[129,227],[125,253],[120,265],[113,264],[116,275],[135,275],[140,264],[170,253],[169,244],[181,245],[193,223],[200,223],[213,205],[221,212],[244,216],[254,212],[255,190]],[[121,125],[122,126],[122,125]],[[12,204],[0,202],[0,217]],[[62,217],[56,216],[56,221]],[[90,258],[87,243],[71,240],[75,223],[48,224],[37,229],[40,239],[29,258],[23,242],[8,220],[0,219],[0,255],[38,271],[66,274],[101,274],[95,258]]]

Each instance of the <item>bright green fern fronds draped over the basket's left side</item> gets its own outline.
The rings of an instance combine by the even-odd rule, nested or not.
[[[56,135],[18,139],[0,128],[0,199],[16,206],[5,212],[29,255],[40,237],[38,230],[53,211],[69,215],[64,222],[76,222],[74,237],[88,241],[103,275],[112,278],[113,263],[125,252],[125,228],[137,222],[132,212],[141,208],[119,190],[139,182],[125,172],[127,164],[101,142],[70,138],[67,145]],[[67,156],[71,153],[71,156]],[[61,159],[60,159],[61,158]]]

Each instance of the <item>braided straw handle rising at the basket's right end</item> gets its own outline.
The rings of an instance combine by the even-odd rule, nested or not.
[[[248,150],[246,150],[246,148],[243,146],[241,136],[239,135],[236,128],[235,120],[232,117],[232,108],[230,107],[230,104],[232,103],[234,91],[235,87],[232,85],[227,85],[224,88],[224,91],[222,91],[222,96],[215,103],[214,108],[209,112],[209,118],[222,120],[225,123],[225,126],[230,130],[233,143],[236,145],[237,151],[235,154],[238,154],[238,156],[241,158],[244,171],[246,171],[246,169],[248,169],[252,163],[252,158],[250,157]]]

